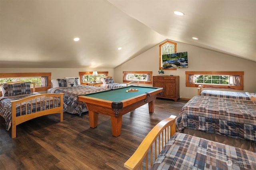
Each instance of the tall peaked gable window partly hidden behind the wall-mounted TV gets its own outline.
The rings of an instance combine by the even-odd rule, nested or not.
[[[176,53],[176,45],[172,41],[166,40],[162,44],[159,45],[159,70],[163,68],[163,59],[168,58],[168,56],[172,53]],[[168,70],[176,70],[176,68],[166,68]],[[163,69],[165,70],[165,69]]]

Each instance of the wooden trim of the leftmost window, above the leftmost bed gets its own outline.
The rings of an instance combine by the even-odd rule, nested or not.
[[[48,86],[36,87],[36,92],[47,91],[51,88],[51,72],[23,72],[23,73],[0,73],[0,78],[15,78],[15,77],[41,77],[48,76]],[[50,85],[50,86],[49,86]]]

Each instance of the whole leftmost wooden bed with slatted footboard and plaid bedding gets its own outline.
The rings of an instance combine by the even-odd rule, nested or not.
[[[9,82],[0,84],[0,116],[5,119],[6,130],[12,127],[12,138],[16,137],[16,126],[20,123],[54,113],[60,114],[63,121],[63,94],[39,94],[35,92],[35,84],[30,82]]]

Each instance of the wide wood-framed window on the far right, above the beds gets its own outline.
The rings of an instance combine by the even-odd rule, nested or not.
[[[186,87],[244,90],[243,71],[186,71]]]

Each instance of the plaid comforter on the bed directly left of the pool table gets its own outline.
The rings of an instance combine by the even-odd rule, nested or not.
[[[84,102],[80,102],[78,100],[78,96],[82,94],[92,93],[92,92],[99,92],[102,90],[108,90],[106,88],[99,88],[94,86],[87,86],[87,85],[78,85],[75,87],[59,87],[59,88],[52,88],[48,90],[48,93],[64,93],[63,101],[65,104],[69,105],[74,109],[74,113],[78,113],[81,116],[82,110],[86,108]],[[86,111],[88,111],[86,109]]]

